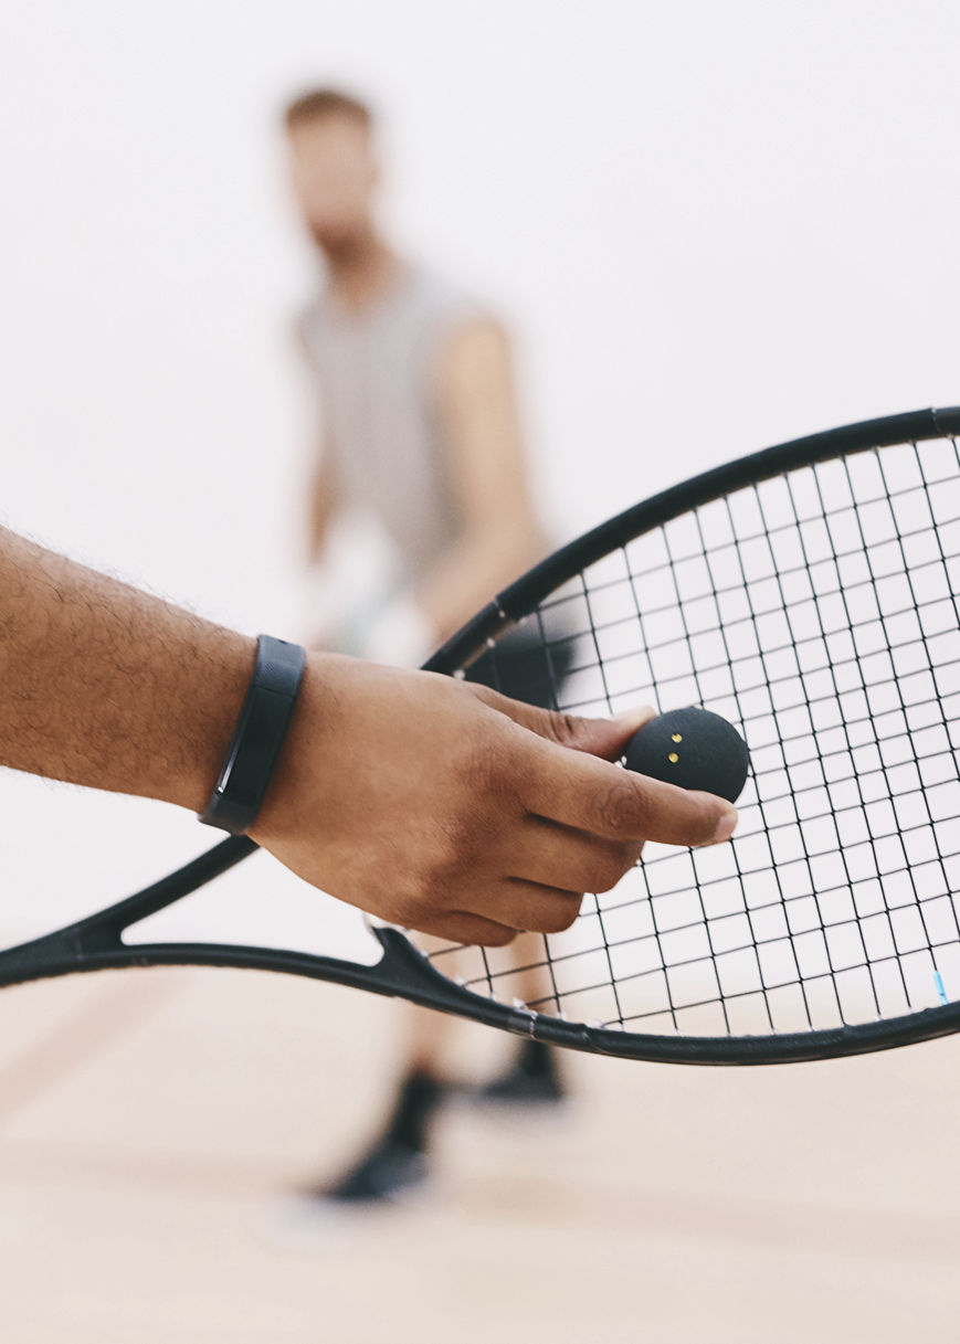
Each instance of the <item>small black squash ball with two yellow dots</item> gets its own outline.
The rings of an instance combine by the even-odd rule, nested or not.
[[[627,767],[652,780],[735,802],[750,753],[739,732],[709,710],[671,710],[645,723],[627,747]]]

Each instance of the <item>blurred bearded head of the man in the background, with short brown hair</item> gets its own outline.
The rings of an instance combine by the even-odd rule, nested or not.
[[[293,190],[316,243],[347,261],[374,233],[379,169],[370,109],[336,89],[315,89],[285,113]]]

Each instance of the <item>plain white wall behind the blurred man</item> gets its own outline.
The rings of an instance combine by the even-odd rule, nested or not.
[[[0,517],[293,629],[309,410],[285,337],[313,259],[277,110],[317,79],[381,106],[398,235],[512,319],[559,534],[768,442],[957,402],[959,42],[952,0],[19,0]],[[0,938],[204,840],[0,777]],[[234,907],[251,935],[261,883],[289,887],[264,864]]]

